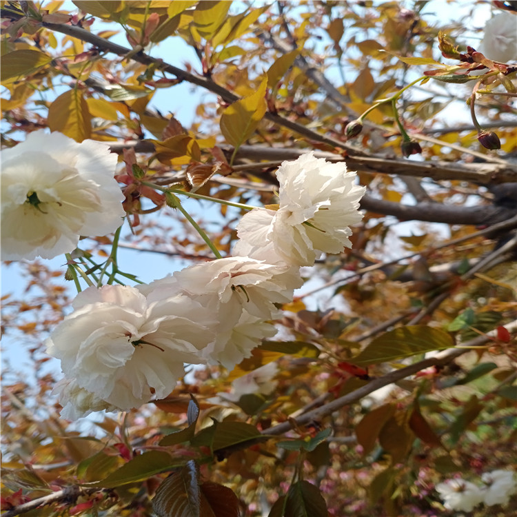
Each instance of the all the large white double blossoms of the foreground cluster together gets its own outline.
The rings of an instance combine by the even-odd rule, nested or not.
[[[116,157],[102,143],[34,132],[4,156],[4,259],[51,258],[74,250],[79,236],[121,224]],[[278,307],[303,283],[300,266],[351,246],[349,225],[361,220],[364,192],[343,163],[312,153],[284,162],[277,176],[278,207],[243,217],[233,256],[150,284],[77,295],[46,343],[65,374],[54,388],[65,418],[163,398],[185,363],[232,369],[276,334]]]

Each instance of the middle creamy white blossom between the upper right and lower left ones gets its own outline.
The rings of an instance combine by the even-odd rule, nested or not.
[[[181,292],[209,310],[214,324],[207,329],[210,343],[201,354],[207,363],[232,369],[276,334],[267,323],[280,316],[274,304],[292,301],[301,283],[298,268],[238,256],[185,267],[140,289],[155,298]]]

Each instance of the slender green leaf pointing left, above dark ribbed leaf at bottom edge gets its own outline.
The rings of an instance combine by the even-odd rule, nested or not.
[[[135,456],[128,463],[125,463],[115,472],[106,476],[103,480],[88,485],[91,487],[114,488],[127,483],[136,483],[160,474],[173,467],[183,465],[179,460],[172,460],[169,454],[160,451],[144,452],[140,456]]]

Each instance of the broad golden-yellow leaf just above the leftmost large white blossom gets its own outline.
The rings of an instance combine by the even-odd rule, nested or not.
[[[92,133],[92,116],[79,90],[61,94],[48,109],[48,127],[82,142]]]

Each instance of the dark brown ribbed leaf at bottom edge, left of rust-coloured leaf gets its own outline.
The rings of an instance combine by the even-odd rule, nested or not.
[[[156,489],[152,509],[159,517],[205,517],[201,514],[198,468],[194,460],[176,470]]]

